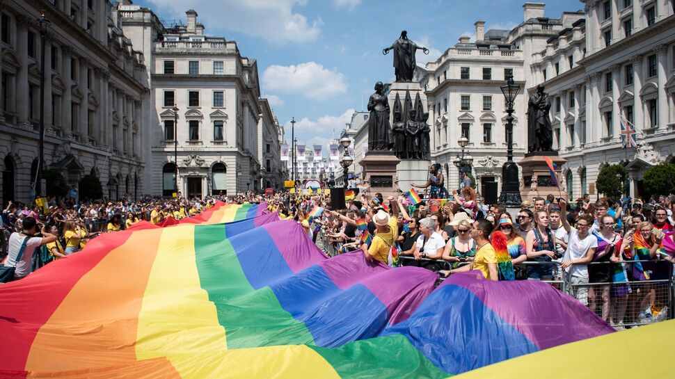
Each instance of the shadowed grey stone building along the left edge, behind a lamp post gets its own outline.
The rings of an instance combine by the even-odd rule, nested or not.
[[[94,173],[103,193],[145,193],[148,104],[145,57],[103,0],[1,3],[2,202],[29,202],[38,168],[40,11],[45,35],[45,170],[76,185]]]

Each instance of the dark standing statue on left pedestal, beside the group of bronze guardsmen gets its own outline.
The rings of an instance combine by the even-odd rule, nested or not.
[[[392,130],[389,127],[389,101],[384,95],[381,81],[375,83],[375,93],[368,100],[368,150],[388,151],[392,147]]]

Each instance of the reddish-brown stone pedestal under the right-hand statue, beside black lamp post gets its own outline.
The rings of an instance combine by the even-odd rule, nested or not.
[[[549,156],[555,163],[555,176],[557,178],[559,188],[553,184],[550,177],[550,170],[543,157]],[[523,172],[523,180],[521,180],[521,197],[523,200],[532,202],[534,197],[546,198],[549,193],[553,194],[555,198],[562,197],[567,200],[567,193],[564,187],[564,178],[562,177],[562,165],[567,162],[566,159],[561,158],[556,152],[534,152],[525,154],[518,165],[521,166]]]

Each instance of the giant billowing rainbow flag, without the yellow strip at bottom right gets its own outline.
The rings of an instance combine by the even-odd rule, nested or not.
[[[540,282],[327,258],[219,203],[0,285],[0,378],[446,378],[612,332]]]

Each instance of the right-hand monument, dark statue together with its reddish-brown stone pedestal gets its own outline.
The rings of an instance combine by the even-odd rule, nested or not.
[[[553,127],[550,122],[550,97],[544,92],[544,86],[537,86],[527,102],[527,154],[518,165],[522,168],[521,197],[532,200],[532,197],[566,197],[562,180],[562,165],[566,159],[558,156],[553,150]],[[544,160],[548,156],[555,163],[556,186],[550,176],[548,164]]]

